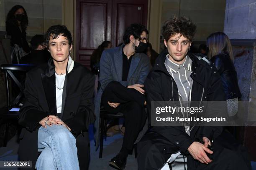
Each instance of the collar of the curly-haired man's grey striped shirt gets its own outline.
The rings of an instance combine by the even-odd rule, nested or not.
[[[170,67],[171,72],[173,73],[177,73],[177,71],[179,70],[179,67],[184,67],[187,70],[191,70],[191,60],[188,56],[186,56],[186,59],[184,61],[184,63],[182,65],[179,65],[175,62],[172,62],[169,59],[169,54],[166,55],[166,59],[165,59],[165,63],[168,67]]]

